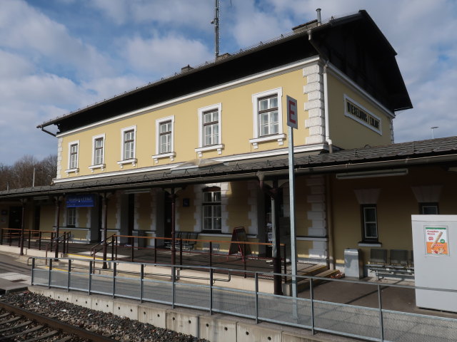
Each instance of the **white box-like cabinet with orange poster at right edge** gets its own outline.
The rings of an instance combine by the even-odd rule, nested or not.
[[[416,286],[457,290],[457,215],[411,215]],[[457,291],[416,289],[416,306],[457,312]]]

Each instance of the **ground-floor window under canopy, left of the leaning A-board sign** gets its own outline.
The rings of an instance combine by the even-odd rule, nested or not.
[[[208,187],[203,190],[203,230],[221,232],[221,188]]]

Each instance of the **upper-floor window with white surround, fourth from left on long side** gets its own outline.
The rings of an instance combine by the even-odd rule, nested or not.
[[[156,120],[156,154],[154,162],[169,157],[174,160],[174,115]]]

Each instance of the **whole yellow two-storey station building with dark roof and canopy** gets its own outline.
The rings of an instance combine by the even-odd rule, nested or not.
[[[411,214],[456,214],[456,140],[393,143],[396,111],[412,108],[395,55],[359,11],[42,123],[57,128],[54,184],[1,192],[0,227],[57,224],[96,242],[104,227],[170,237],[174,223],[201,240],[244,227],[269,242],[273,225],[290,244],[291,96],[298,259],[341,266],[346,248],[365,261],[370,248],[411,250]]]

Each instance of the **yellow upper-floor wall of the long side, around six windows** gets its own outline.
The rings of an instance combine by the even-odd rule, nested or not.
[[[96,128],[87,128],[74,134],[65,135],[62,139],[62,165],[61,177],[67,177],[65,170],[68,169],[69,142],[79,140],[79,174],[92,175],[89,165],[92,165],[92,137],[105,134],[105,170],[94,170],[94,175],[102,172],[120,171],[117,164],[121,160],[121,130],[136,125],[136,166],[124,165],[122,170],[131,170],[139,167],[151,167],[169,164],[169,158],[159,159],[154,163],[152,155],[156,154],[156,120],[174,115],[174,150],[176,158],[174,162],[184,162],[197,157],[195,148],[199,147],[199,120],[198,109],[208,105],[222,103],[221,111],[221,134],[224,150],[218,155],[216,151],[204,152],[203,157],[221,157],[236,155],[253,151],[249,139],[253,138],[253,104],[252,95],[274,88],[281,88],[283,97],[283,111],[286,110],[286,95],[298,100],[298,120],[303,123],[306,113],[303,103],[306,95],[303,94],[303,78],[301,68],[284,73],[279,76],[263,78],[260,81],[246,83],[243,86],[229,88],[228,90],[215,91],[208,95],[202,95],[190,100],[181,101],[168,107],[152,110],[149,113],[135,115],[133,117],[115,120],[106,125]],[[301,125],[295,133],[295,145],[303,145],[308,130]],[[236,132],[236,134],[233,134]],[[287,133],[286,115],[283,115],[283,132]],[[272,150],[287,147],[278,145],[278,142],[261,142],[255,151]],[[69,177],[76,174],[71,173]]]

